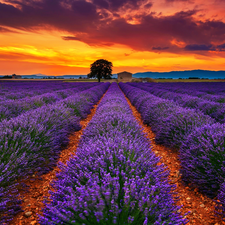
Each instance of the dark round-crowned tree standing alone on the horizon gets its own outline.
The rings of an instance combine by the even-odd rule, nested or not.
[[[98,82],[101,78],[111,79],[112,76],[112,63],[105,59],[98,59],[91,64],[91,72],[88,74],[88,77],[97,77]]]

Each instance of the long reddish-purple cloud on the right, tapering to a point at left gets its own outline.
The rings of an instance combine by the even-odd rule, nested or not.
[[[128,24],[123,18],[111,21],[91,35],[80,37],[89,45],[107,41],[128,45],[135,50],[149,50],[157,46],[166,46],[168,51],[179,51],[171,44],[176,39],[186,45],[192,43],[211,43],[225,34],[223,26],[215,23],[195,21],[196,11],[181,11],[172,16],[143,16],[140,24]],[[225,25],[222,23],[222,25]],[[82,36],[82,35],[81,35]]]

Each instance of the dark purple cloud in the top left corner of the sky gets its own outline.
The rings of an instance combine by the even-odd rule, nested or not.
[[[71,1],[70,8],[63,7],[61,0],[42,2],[8,1],[13,5],[0,3],[0,25],[17,29],[32,30],[52,26],[69,32],[87,31],[99,20],[96,6],[85,1]]]

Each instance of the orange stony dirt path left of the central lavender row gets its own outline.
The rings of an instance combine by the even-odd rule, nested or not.
[[[107,92],[107,91],[106,91]],[[105,94],[106,94],[105,92]],[[83,134],[83,130],[86,128],[90,120],[95,114],[95,111],[101,102],[102,98],[97,102],[96,105],[91,109],[91,113],[87,116],[86,119],[80,121],[82,126],[81,130],[74,132],[69,137],[68,146],[62,150],[58,162],[62,162],[67,164],[67,161],[75,155],[76,149],[79,144],[79,140],[81,135]],[[49,197],[49,190],[53,191],[50,183],[52,180],[56,178],[56,173],[60,172],[58,167],[55,167],[52,171],[47,174],[41,176],[41,180],[36,179],[35,175],[28,179],[25,183],[30,186],[29,191],[26,193],[24,191],[20,192],[21,200],[22,200],[22,210],[24,212],[18,213],[12,221],[10,221],[9,225],[37,225],[38,223],[38,215],[42,215],[41,209],[44,207],[43,200],[44,196]]]

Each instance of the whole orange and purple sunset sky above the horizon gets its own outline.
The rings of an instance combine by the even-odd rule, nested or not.
[[[0,0],[0,75],[225,70],[225,0]]]

